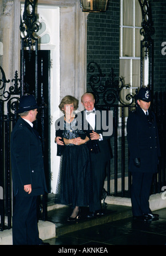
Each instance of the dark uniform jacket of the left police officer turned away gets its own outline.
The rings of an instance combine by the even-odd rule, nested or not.
[[[14,195],[34,196],[47,192],[39,134],[21,117],[11,133],[11,164]],[[30,194],[24,191],[27,184],[32,184]]]

